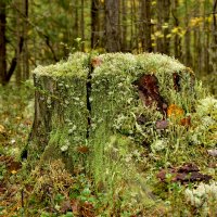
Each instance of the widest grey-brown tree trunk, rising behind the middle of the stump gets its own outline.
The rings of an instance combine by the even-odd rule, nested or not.
[[[118,12],[119,0],[105,0],[105,48],[108,52],[120,51]]]

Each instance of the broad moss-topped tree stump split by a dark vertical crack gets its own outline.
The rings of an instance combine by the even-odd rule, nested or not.
[[[114,136],[149,145],[149,125],[166,122],[170,105],[184,114],[193,110],[193,77],[177,60],[153,53],[75,53],[66,62],[38,66],[27,157],[62,158],[75,171],[77,162],[103,165],[99,156]]]

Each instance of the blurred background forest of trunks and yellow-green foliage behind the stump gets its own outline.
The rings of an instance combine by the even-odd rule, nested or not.
[[[1,0],[0,80],[78,50],[165,53],[215,78],[216,11],[216,0]]]

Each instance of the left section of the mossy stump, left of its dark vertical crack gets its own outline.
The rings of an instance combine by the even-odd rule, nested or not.
[[[88,59],[79,53],[67,62],[35,69],[35,119],[28,144],[29,159],[62,158],[67,168],[74,165],[74,149],[87,139]]]

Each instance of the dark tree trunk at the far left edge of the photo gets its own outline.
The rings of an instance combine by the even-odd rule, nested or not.
[[[7,82],[7,41],[5,41],[7,12],[4,1],[0,1],[0,82]]]

